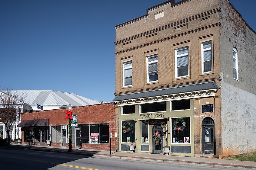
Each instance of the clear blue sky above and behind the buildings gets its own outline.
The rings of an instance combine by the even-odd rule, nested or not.
[[[114,26],[161,2],[0,1],[1,89],[64,91],[111,102]],[[256,30],[256,1],[230,2]]]

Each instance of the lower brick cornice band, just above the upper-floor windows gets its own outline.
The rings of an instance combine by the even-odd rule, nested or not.
[[[126,49],[126,50],[118,51],[118,52],[115,53],[115,55],[116,54],[120,54],[120,53],[125,53],[125,52],[131,51],[131,50],[135,50],[135,49],[138,49],[138,48],[141,48],[141,47],[149,46],[149,45],[152,45],[152,44],[160,43],[162,41],[170,40],[170,39],[173,39],[173,38],[176,38],[176,37],[181,37],[183,35],[191,34],[191,33],[194,33],[194,32],[197,32],[197,31],[201,31],[201,30],[204,30],[204,29],[207,29],[207,28],[211,28],[211,27],[215,27],[215,26],[220,26],[220,25],[221,25],[221,23],[218,22],[218,23],[211,24],[211,25],[208,25],[208,26],[205,26],[205,27],[200,27],[200,28],[197,28],[195,30],[187,31],[185,33],[177,34],[177,35],[174,35],[174,36],[171,36],[171,37],[163,38],[161,40],[156,40],[156,41],[153,41],[153,42],[150,42],[150,43],[145,43],[145,44],[142,44],[142,45],[137,46],[137,47],[132,47],[132,48],[129,48],[129,49]]]

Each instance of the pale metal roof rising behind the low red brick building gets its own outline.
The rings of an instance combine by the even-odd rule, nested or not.
[[[1,90],[5,92],[7,90]],[[17,92],[17,95],[25,96],[25,103],[29,105],[64,105],[68,106],[85,106],[91,104],[100,104],[99,101],[94,101],[73,93],[65,93],[52,90],[8,90],[11,93]]]

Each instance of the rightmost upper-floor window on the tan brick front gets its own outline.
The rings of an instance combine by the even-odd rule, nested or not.
[[[201,43],[201,68],[202,74],[212,72],[211,69],[211,41]]]

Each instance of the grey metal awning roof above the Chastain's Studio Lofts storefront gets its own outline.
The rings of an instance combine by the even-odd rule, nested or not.
[[[132,94],[128,94],[128,95],[118,95],[113,101],[147,98],[147,97],[178,94],[178,93],[184,93],[184,92],[189,92],[189,91],[218,89],[218,88],[219,87],[215,82],[207,82],[207,83],[201,83],[201,84],[195,84],[195,85],[186,85],[186,86],[180,86],[180,87],[174,87],[174,88],[166,88],[166,89],[161,89],[161,90],[132,93]]]

